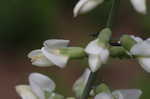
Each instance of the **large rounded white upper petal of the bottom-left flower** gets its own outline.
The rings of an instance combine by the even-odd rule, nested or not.
[[[40,98],[45,99],[45,91],[52,92],[56,85],[49,77],[40,74],[32,73],[29,76],[29,84],[32,91]]]

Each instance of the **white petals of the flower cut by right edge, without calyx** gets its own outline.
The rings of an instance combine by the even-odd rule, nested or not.
[[[150,72],[150,40],[140,41],[135,44],[130,53],[135,55],[139,64],[147,72]]]

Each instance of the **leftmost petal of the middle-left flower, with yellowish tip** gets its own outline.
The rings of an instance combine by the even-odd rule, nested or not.
[[[42,53],[41,50],[33,50],[28,54],[28,58],[31,59],[32,65],[39,67],[48,67],[53,65]]]

